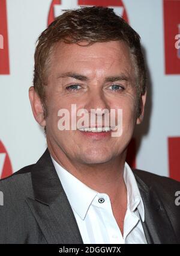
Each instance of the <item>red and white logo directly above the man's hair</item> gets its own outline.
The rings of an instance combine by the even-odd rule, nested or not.
[[[114,8],[116,14],[121,15],[127,22],[127,12],[122,0],[52,0],[50,5],[47,25],[49,25],[55,17],[61,14],[61,10],[80,8],[80,6],[100,5]]]

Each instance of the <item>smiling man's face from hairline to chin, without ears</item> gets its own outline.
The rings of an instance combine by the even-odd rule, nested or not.
[[[106,163],[124,154],[137,122],[134,69],[130,50],[124,42],[110,41],[91,46],[59,43],[51,56],[46,87],[47,143],[61,155],[82,164]],[[103,135],[79,130],[59,131],[58,111],[65,108],[71,117],[71,104],[76,104],[77,110],[85,108],[89,113],[97,108],[122,109],[122,135],[112,137],[111,132]]]

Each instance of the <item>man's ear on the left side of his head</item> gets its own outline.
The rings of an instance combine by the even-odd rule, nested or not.
[[[29,99],[31,102],[32,113],[34,114],[35,120],[41,125],[46,126],[46,120],[44,119],[43,104],[37,92],[34,90],[34,86],[29,88]]]

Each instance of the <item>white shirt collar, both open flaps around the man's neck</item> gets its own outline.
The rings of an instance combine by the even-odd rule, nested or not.
[[[80,216],[81,219],[85,219],[86,213],[97,194],[101,195],[97,191],[86,186],[74,175],[65,170],[60,164],[58,164],[51,156],[56,172],[58,173],[59,180],[61,181],[62,187],[67,195],[68,201],[71,207]],[[136,179],[134,174],[125,163],[124,166],[124,181],[127,186],[127,209],[130,211],[139,210],[142,221],[145,220],[145,210],[143,201],[140,196],[139,188],[137,187]]]

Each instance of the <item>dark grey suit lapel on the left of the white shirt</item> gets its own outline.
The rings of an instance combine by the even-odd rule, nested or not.
[[[34,198],[27,198],[26,203],[47,243],[83,243],[48,149],[34,165],[31,175]]]

